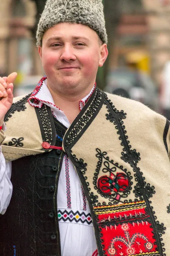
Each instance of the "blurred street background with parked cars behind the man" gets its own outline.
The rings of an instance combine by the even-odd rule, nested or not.
[[[46,0],[1,0],[0,76],[17,72],[14,95],[44,76],[35,34]],[[170,0],[103,0],[109,57],[102,90],[139,100],[170,119]]]

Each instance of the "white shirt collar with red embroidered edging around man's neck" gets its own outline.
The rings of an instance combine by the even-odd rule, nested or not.
[[[84,107],[85,103],[88,101],[88,99],[91,97],[91,95],[94,93],[94,90],[96,88],[96,83],[94,84],[94,87],[91,89],[90,93],[86,95],[83,99],[79,101],[79,110],[81,111]],[[31,93],[31,96],[28,98],[28,103],[36,108],[41,108],[43,103],[45,105],[48,105],[51,108],[55,108],[59,111],[62,111],[60,108],[58,108],[54,104],[54,100],[52,98],[52,95],[47,87],[47,77],[43,76],[42,79],[39,81],[37,86],[35,87],[34,91]],[[63,111],[62,111],[63,112]]]

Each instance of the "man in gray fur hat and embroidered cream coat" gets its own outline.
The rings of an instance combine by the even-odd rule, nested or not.
[[[102,1],[48,0],[46,76],[0,79],[0,255],[169,255],[169,121],[96,87],[106,44]]]

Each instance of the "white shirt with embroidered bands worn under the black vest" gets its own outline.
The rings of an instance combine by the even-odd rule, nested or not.
[[[29,104],[41,108],[42,103],[51,108],[53,115],[67,128],[70,123],[64,112],[57,108],[46,86],[46,78],[40,82],[29,98]],[[81,110],[91,96],[91,92],[79,102]],[[0,157],[0,212],[5,213],[11,199],[12,184],[11,162],[6,163],[1,153]],[[65,154],[59,176],[57,207],[62,256],[91,256],[96,250],[94,227],[89,212],[81,182],[76,170]]]

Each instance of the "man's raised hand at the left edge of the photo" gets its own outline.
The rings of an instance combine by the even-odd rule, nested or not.
[[[3,125],[4,116],[12,105],[13,84],[16,77],[16,72],[11,73],[8,77],[0,77],[0,126]]]

